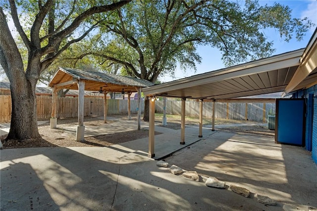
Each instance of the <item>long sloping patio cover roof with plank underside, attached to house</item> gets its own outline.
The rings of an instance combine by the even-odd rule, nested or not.
[[[143,93],[220,100],[275,92],[286,95],[313,86],[317,84],[316,31],[306,49],[155,85],[144,88]]]

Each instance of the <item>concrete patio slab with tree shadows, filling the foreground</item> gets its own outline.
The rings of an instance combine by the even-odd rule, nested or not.
[[[146,128],[146,125],[143,125]],[[187,171],[200,182],[173,175],[147,157],[148,139],[83,148],[25,148],[0,151],[0,210],[229,210],[280,211],[317,207],[317,166],[310,152],[275,144],[273,138],[186,127],[156,126],[156,158]],[[103,131],[105,132],[105,131]],[[181,150],[179,150],[182,148]],[[216,177],[225,189],[207,187]],[[238,195],[236,184],[251,192]],[[256,194],[277,202],[267,206]],[[287,207],[287,206],[286,206]]]

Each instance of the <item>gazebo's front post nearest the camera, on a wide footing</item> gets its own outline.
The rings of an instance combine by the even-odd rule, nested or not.
[[[84,126],[84,93],[85,81],[78,81],[78,126],[76,131],[76,141],[84,140],[85,126]]]

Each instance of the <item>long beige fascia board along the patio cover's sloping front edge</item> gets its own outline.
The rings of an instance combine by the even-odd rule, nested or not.
[[[283,53],[269,58],[260,59],[257,61],[233,66],[231,68],[220,69],[200,75],[180,79],[177,81],[167,82],[164,84],[155,85],[143,89],[145,96],[155,95],[170,90],[177,90],[193,86],[199,86],[207,83],[228,80],[246,75],[258,74],[275,69],[287,68],[290,66],[299,65],[299,59],[304,49],[294,52]]]

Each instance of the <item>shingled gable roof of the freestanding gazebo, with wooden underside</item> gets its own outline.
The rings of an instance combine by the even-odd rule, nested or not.
[[[147,80],[138,78],[59,67],[49,86],[77,90],[77,80],[84,80],[85,90],[88,91],[99,91],[102,87],[107,92],[122,92],[122,89],[124,92],[136,92],[136,88],[154,85]]]

